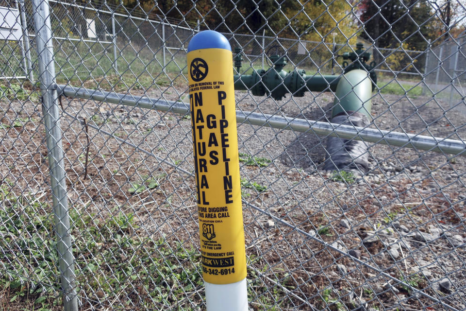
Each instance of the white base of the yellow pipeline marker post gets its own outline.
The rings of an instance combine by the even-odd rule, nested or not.
[[[248,311],[246,278],[231,284],[205,282],[207,311]]]

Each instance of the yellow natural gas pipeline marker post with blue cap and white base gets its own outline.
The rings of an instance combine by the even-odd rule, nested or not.
[[[189,42],[187,64],[207,310],[247,311],[230,43],[215,31],[200,32]]]

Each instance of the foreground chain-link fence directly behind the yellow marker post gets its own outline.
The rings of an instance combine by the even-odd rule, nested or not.
[[[279,45],[286,70],[344,79],[335,54],[368,34],[354,12],[373,2],[351,2],[359,26],[335,45],[339,20],[313,26],[335,14],[325,3],[304,18],[316,42],[271,2],[277,14],[251,9],[257,31],[248,1],[18,2],[23,41],[0,41],[0,310],[204,310],[187,44],[219,29],[241,75]],[[415,51],[401,43],[420,30],[397,37],[381,12],[400,44],[366,44],[385,70],[367,124],[331,122],[330,83],[282,100],[235,91],[251,310],[466,308],[464,19]],[[362,154],[324,170],[335,137]]]

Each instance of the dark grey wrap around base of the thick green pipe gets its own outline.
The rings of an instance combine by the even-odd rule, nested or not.
[[[331,123],[366,127],[369,120],[366,115],[358,112],[348,112],[339,114],[330,121]],[[343,139],[339,137],[329,137],[327,140],[327,157],[324,169],[328,171],[351,171],[367,172],[367,147],[361,140]]]

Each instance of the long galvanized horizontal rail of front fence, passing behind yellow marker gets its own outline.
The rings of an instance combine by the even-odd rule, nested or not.
[[[71,98],[91,99],[100,102],[170,111],[179,114],[186,114],[190,111],[189,105],[186,103],[155,99],[147,96],[136,96],[66,85],[58,85],[58,92],[61,95]],[[238,123],[246,122],[253,125],[268,126],[284,130],[295,130],[299,132],[312,131],[315,134],[322,136],[329,135],[345,139],[382,143],[397,147],[437,151],[453,155],[466,155],[466,143],[455,139],[405,134],[394,131],[376,130],[367,127],[289,118],[241,110],[236,110],[236,121]]]

